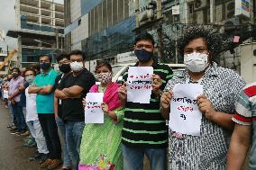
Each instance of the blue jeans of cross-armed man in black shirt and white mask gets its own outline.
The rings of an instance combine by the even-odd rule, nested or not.
[[[69,156],[72,159],[75,170],[78,170],[79,150],[82,139],[82,133],[85,127],[84,121],[65,121],[66,143]]]

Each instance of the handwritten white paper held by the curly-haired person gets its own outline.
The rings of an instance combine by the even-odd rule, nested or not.
[[[178,84],[174,86],[169,112],[170,130],[200,136],[202,113],[197,105],[197,96],[200,94],[203,94],[203,85]]]

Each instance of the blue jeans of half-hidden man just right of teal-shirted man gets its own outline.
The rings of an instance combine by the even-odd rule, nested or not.
[[[66,127],[65,127],[64,121],[61,118],[57,117],[57,118],[55,118],[55,120],[56,120],[57,126],[59,128],[59,131],[62,135],[62,138],[64,139],[63,166],[69,167],[69,166],[72,166],[72,159],[69,156],[69,151],[68,151],[67,143],[66,143]]]

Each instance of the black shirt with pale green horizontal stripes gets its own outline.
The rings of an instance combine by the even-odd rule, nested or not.
[[[138,66],[136,64],[135,66]],[[154,61],[153,73],[160,76],[163,90],[172,78],[172,69]],[[127,81],[128,72],[123,75]],[[122,142],[126,146],[136,148],[166,148],[168,128],[160,114],[160,98],[151,94],[151,103],[127,102],[124,110]]]

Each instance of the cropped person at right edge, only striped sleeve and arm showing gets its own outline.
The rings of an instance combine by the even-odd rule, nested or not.
[[[249,168],[256,169],[256,83],[242,90],[233,116],[235,127],[227,157],[228,170],[240,170],[251,146]]]

